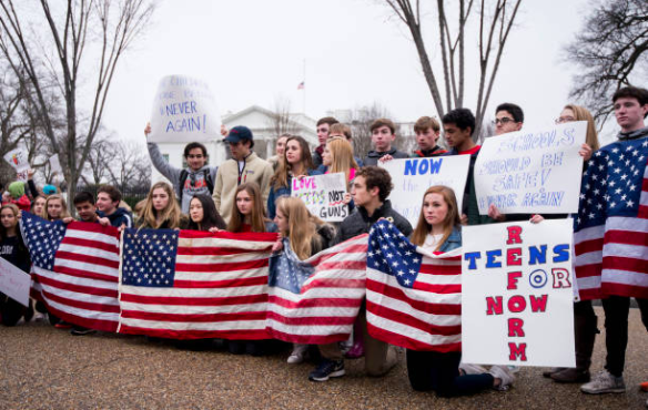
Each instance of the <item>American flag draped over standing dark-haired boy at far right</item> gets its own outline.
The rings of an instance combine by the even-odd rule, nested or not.
[[[574,249],[581,299],[648,298],[648,139],[597,151],[584,173]]]

